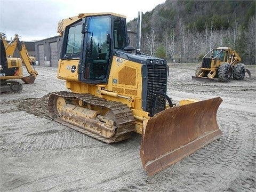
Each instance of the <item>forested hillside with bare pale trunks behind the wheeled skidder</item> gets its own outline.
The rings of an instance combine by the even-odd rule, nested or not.
[[[142,15],[141,49],[169,62],[198,62],[228,46],[255,65],[256,1],[171,1]],[[127,23],[136,31],[137,18]]]

